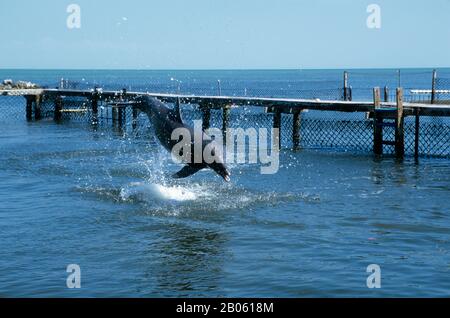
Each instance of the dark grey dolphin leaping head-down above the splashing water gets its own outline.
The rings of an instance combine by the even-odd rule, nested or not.
[[[172,140],[172,132],[177,128],[185,128],[190,132],[191,140],[191,160],[176,174],[172,177],[181,179],[187,178],[198,171],[206,168],[210,168],[214,170],[219,176],[221,176],[226,182],[230,182],[230,171],[225,166],[223,162],[223,151],[222,148],[217,145],[213,140],[211,140],[210,136],[208,136],[205,132],[202,131],[202,154],[205,150],[205,147],[208,146],[208,149],[211,150],[212,154],[216,155],[217,160],[213,163],[205,162],[202,156],[201,163],[195,163],[194,161],[194,129],[183,123],[181,119],[180,113],[180,101],[177,100],[175,109],[170,109],[166,107],[162,102],[157,100],[156,98],[150,96],[139,96],[135,100],[135,107],[140,111],[143,111],[147,114],[149,120],[153,124],[155,129],[156,137],[159,142],[163,145],[166,150],[169,152],[172,151],[173,147],[178,144],[179,141]],[[186,142],[186,141],[185,141]],[[187,141],[189,143],[189,141]]]

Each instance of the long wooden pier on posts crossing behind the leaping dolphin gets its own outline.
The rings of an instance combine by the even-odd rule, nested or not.
[[[347,79],[344,77],[344,85]],[[219,83],[220,87],[220,83]],[[124,115],[127,107],[132,108],[133,127],[137,119],[137,109],[128,101],[142,95],[148,95],[163,102],[179,104],[199,105],[203,113],[203,128],[209,127],[211,110],[222,110],[222,130],[225,134],[230,121],[230,107],[254,106],[261,107],[266,113],[273,114],[273,127],[282,129],[281,115],[289,114],[293,117],[292,144],[295,150],[300,148],[302,112],[306,110],[334,111],[334,112],[359,112],[367,114],[367,118],[373,120],[373,152],[376,155],[383,154],[383,145],[395,147],[395,154],[403,158],[405,153],[404,141],[404,119],[409,116],[415,117],[415,155],[419,155],[420,138],[420,116],[450,116],[450,105],[442,104],[417,104],[405,103],[403,101],[403,89],[396,89],[396,101],[388,102],[387,89],[384,89],[384,101],[382,101],[380,88],[374,88],[373,100],[357,102],[351,101],[351,91],[345,90],[344,100],[320,100],[320,99],[290,99],[290,98],[259,98],[259,97],[236,97],[236,96],[195,96],[182,94],[157,94],[143,92],[102,91],[95,90],[67,90],[67,89],[33,89],[33,90],[11,90],[0,91],[0,96],[24,96],[25,112],[28,120],[39,120],[42,118],[41,101],[43,98],[51,98],[54,101],[55,120],[60,120],[62,114],[68,112],[92,112],[93,124],[98,123],[99,103],[107,103],[112,107],[113,122],[118,125],[125,124]],[[219,94],[220,95],[220,94]],[[85,108],[66,109],[64,99],[68,97],[83,97],[88,100]],[[33,116],[34,115],[34,116]],[[34,118],[33,118],[34,117]],[[392,127],[395,131],[394,140],[385,140],[384,127]],[[281,136],[281,132],[280,132]],[[280,140],[281,142],[281,140]],[[450,142],[450,141],[449,141]]]

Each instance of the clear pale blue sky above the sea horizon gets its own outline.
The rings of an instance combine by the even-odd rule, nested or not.
[[[450,0],[2,0],[0,67],[448,67],[449,17]]]

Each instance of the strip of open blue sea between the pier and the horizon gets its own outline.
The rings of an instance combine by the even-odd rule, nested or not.
[[[348,85],[354,100],[372,98],[374,87],[431,89],[432,69],[349,70]],[[341,97],[343,70],[254,70],[254,71],[145,71],[145,70],[1,70],[0,79],[27,80],[48,88],[58,87],[61,79],[69,88],[127,89],[184,94],[216,95],[220,80],[222,95],[303,97],[337,99]],[[438,70],[437,89],[449,89],[450,68]],[[392,98],[393,96],[391,96]]]

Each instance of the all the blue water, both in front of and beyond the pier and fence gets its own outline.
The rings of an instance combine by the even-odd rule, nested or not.
[[[358,72],[355,87],[398,80]],[[427,88],[429,74],[402,70],[411,88]],[[220,79],[233,94],[289,95],[337,88],[342,72],[0,71],[48,86],[61,77],[168,91],[173,78],[205,93]],[[179,167],[150,130],[0,123],[2,297],[449,296],[448,159],[283,149],[275,175],[244,164],[231,165],[230,184],[210,171],[172,180]],[[67,288],[69,264],[80,289]],[[371,264],[379,289],[366,284]]]

